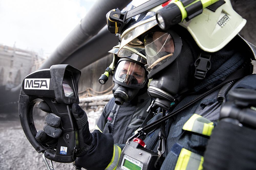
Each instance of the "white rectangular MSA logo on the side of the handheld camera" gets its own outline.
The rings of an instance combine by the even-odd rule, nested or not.
[[[24,89],[49,90],[50,79],[25,79]]]

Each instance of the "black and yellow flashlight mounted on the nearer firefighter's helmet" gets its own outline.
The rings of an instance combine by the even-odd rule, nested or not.
[[[166,30],[172,25],[182,22],[184,19],[190,20],[198,16],[202,13],[204,8],[218,1],[219,0],[172,0],[168,5],[156,12],[158,26]],[[221,0],[221,2],[222,3],[217,4],[218,7],[221,6],[223,2],[225,3],[223,0]]]

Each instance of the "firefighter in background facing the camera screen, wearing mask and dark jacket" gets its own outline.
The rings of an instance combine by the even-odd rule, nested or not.
[[[116,66],[111,69],[114,72],[114,97],[105,105],[95,129],[111,133],[115,143],[125,143],[145,120],[152,98],[147,94],[145,53],[140,51],[120,58],[116,55],[119,46],[109,51],[116,62]]]

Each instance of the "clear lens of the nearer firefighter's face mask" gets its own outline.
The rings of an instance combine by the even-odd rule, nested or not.
[[[175,47],[172,36],[167,32],[150,32],[144,36],[145,52],[149,71],[157,68],[172,57]]]

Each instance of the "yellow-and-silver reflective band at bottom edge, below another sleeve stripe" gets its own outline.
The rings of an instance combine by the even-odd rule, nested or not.
[[[174,170],[201,170],[204,157],[182,148]]]

